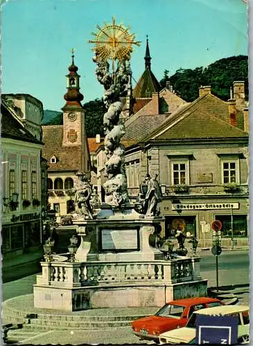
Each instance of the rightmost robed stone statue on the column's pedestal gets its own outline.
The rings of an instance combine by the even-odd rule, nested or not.
[[[146,216],[157,215],[157,204],[162,200],[162,193],[157,181],[157,174],[148,180],[148,191],[145,197],[147,206]]]

